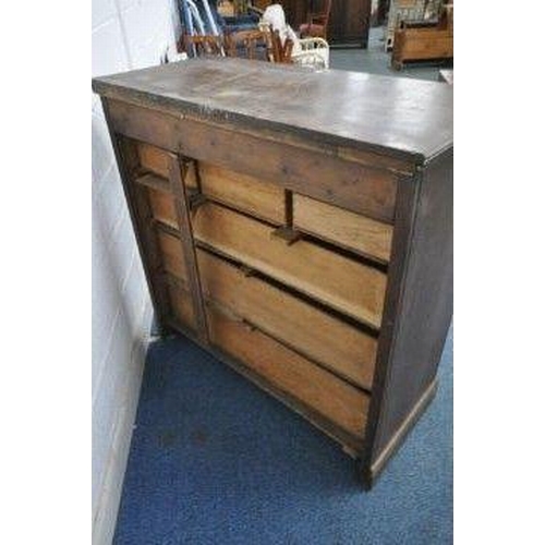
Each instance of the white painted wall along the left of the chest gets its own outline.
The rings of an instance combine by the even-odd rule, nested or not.
[[[174,51],[172,0],[93,0],[93,76]],[[93,95],[93,543],[111,542],[152,305],[100,101]]]

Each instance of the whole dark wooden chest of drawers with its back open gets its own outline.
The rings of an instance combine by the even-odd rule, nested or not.
[[[371,486],[433,398],[451,319],[452,88],[235,59],[93,85],[161,325]]]

